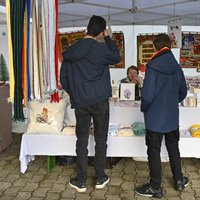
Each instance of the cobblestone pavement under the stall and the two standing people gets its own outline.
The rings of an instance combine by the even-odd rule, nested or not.
[[[101,190],[94,188],[94,169],[88,167],[87,191],[78,193],[70,188],[69,180],[76,175],[76,165],[56,165],[47,173],[47,157],[36,156],[27,171],[20,173],[19,152],[21,134],[13,133],[13,143],[0,154],[1,200],[144,200],[134,188],[149,181],[147,162],[122,158],[113,169],[106,169],[109,184]],[[169,163],[162,163],[164,200],[200,200],[200,160],[182,158],[182,171],[190,184],[182,192],[173,189],[174,181]]]

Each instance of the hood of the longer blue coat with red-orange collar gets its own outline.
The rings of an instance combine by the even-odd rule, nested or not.
[[[167,75],[174,74],[178,66],[179,64],[172,52],[163,54],[147,63],[147,67]]]

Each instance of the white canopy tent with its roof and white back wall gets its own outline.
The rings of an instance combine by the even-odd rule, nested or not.
[[[125,36],[125,69],[111,69],[111,79],[117,83],[126,76],[126,69],[137,63],[138,34],[167,32],[168,22],[178,18],[182,19],[182,31],[200,32],[199,9],[200,0],[58,0],[58,28],[60,32],[83,30],[93,14],[107,22],[110,17],[112,31],[123,31]],[[0,24],[5,31],[5,0],[0,0]],[[173,52],[179,62],[180,49]],[[195,68],[185,68],[184,73],[199,75]]]

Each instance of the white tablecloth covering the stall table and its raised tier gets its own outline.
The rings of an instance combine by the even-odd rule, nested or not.
[[[74,111],[67,106],[64,123],[75,121]],[[180,130],[189,130],[193,124],[200,124],[200,109],[192,107],[180,108]],[[121,123],[142,122],[143,114],[139,107],[110,107],[110,121]],[[164,143],[164,141],[163,141]],[[21,142],[20,162],[21,172],[24,173],[27,165],[34,160],[35,155],[76,155],[76,136],[74,135],[43,135],[24,134]],[[181,137],[179,147],[181,157],[200,158],[200,138]],[[89,137],[89,156],[94,156],[94,137]],[[146,157],[145,138],[108,137],[108,157]],[[167,157],[165,145],[162,144],[161,157]]]

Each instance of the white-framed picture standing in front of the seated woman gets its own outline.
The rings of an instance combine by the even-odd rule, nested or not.
[[[120,100],[135,100],[135,83],[121,83]]]

